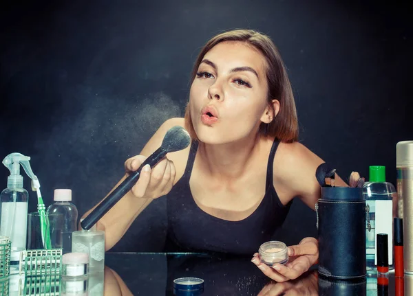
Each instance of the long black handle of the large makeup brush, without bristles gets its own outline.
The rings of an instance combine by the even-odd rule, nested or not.
[[[87,215],[87,217],[82,221],[81,227],[86,230],[91,229],[92,226],[95,225],[98,220],[100,220],[100,218],[102,218],[109,211],[109,209],[112,209],[112,207],[120,201],[120,198],[123,198],[123,196],[125,196],[125,194],[127,194],[127,192],[134,187],[139,179],[142,168],[147,164],[153,168],[153,166],[156,166],[156,164],[158,164],[158,162],[161,161],[165,155],[167,155],[167,152],[168,151],[162,147],[153,152],[147,159],[145,159],[138,170],[131,172],[131,174],[123,180],[123,182],[120,183],[118,187],[116,187],[115,190],[107,196],[107,198],[105,198],[97,207],[94,208],[92,212],[90,212],[89,215]]]

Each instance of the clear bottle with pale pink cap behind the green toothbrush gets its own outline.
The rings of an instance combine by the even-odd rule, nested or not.
[[[72,233],[76,231],[78,210],[72,201],[72,190],[56,189],[54,190],[54,201],[47,207],[47,214],[62,214],[64,217],[63,229],[61,229],[61,238],[63,254],[72,252]]]

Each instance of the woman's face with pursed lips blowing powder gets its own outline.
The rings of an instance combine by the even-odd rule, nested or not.
[[[268,109],[265,69],[264,56],[245,43],[219,43],[205,54],[189,94],[200,141],[225,144],[255,137]]]

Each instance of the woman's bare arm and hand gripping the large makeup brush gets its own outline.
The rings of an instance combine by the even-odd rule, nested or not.
[[[140,152],[140,155],[132,157],[125,162],[125,169],[127,171],[137,170],[146,157],[151,155],[151,153],[161,146],[167,130],[172,126],[182,125],[182,122],[183,119],[174,118],[169,119],[162,124],[153,137],[147,142],[145,148]],[[145,157],[143,155],[145,155]],[[167,157],[168,156],[169,155],[167,155]],[[142,170],[140,179],[136,185],[125,194],[112,209],[109,209],[109,212],[107,212],[98,223],[96,223],[96,229],[105,231],[105,251],[114,247],[126,233],[127,229],[129,229],[136,217],[149,205],[149,203],[151,203],[151,201],[153,201],[154,198],[163,196],[171,190],[174,185],[175,175],[175,166],[173,165],[173,162],[167,158],[160,161],[157,166],[149,171],[144,172]],[[128,174],[126,173],[111,192],[127,176]],[[92,209],[87,211],[83,215],[83,218],[92,212]]]

